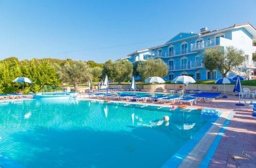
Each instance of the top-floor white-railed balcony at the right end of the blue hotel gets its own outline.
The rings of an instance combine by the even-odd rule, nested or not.
[[[229,46],[232,45],[232,41],[223,37],[219,37],[217,39],[210,39],[202,42],[198,42],[195,44],[191,44],[191,51],[203,50],[209,47],[217,47],[217,46]]]

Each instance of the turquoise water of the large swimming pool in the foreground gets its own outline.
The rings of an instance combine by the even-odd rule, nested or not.
[[[26,167],[161,167],[209,120],[129,103],[0,102],[0,153]]]

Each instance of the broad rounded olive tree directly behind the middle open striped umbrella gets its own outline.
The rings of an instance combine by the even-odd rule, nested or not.
[[[138,64],[137,71],[141,79],[146,79],[151,76],[164,77],[168,73],[167,65],[162,61],[162,59],[148,59],[146,61],[140,62]]]

